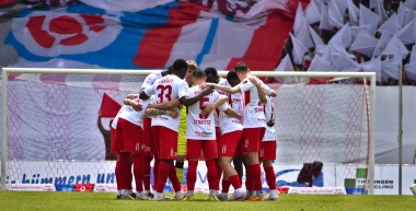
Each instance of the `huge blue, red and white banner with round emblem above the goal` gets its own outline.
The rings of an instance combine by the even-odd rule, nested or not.
[[[163,69],[183,58],[201,68],[232,69],[243,60],[271,71],[292,30],[292,1],[65,1],[59,10],[23,11],[5,43],[19,54],[15,67]]]

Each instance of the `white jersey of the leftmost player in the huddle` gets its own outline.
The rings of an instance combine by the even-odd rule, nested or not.
[[[137,112],[131,106],[124,105],[118,110],[117,116],[113,120],[112,127],[114,129],[117,128],[118,118],[126,119],[127,121],[141,127],[141,124],[142,124],[143,118],[146,116],[146,108],[148,107],[149,103],[153,103],[154,102],[154,97],[152,96],[152,97],[149,97],[148,99],[137,98],[135,101],[136,101],[136,103],[138,103],[138,104],[140,104],[142,106],[142,109],[140,112]]]

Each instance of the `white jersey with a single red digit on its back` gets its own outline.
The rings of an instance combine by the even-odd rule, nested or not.
[[[189,89],[188,96],[196,96],[203,89],[199,85]],[[194,140],[216,140],[216,126],[213,113],[201,115],[205,106],[212,104],[218,99],[220,94],[217,91],[204,96],[199,102],[187,107],[186,115],[186,138]],[[226,110],[227,105],[222,104],[218,107],[220,110]]]

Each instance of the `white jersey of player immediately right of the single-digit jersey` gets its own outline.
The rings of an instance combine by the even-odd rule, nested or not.
[[[234,112],[242,114],[241,93],[231,94],[229,97],[229,105],[231,105],[230,107]],[[229,117],[224,113],[220,113],[219,127],[221,129],[221,133],[223,134],[236,130],[243,130],[243,125],[240,119]]]

